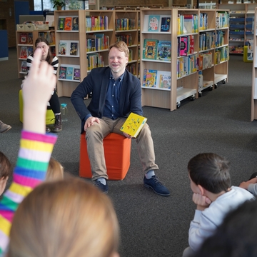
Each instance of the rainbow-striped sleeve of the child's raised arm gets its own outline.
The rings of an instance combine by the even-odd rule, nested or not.
[[[9,243],[11,221],[23,198],[46,176],[56,143],[55,134],[21,131],[21,141],[13,181],[0,201],[0,255]]]

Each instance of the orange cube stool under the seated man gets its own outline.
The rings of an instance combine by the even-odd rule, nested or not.
[[[86,146],[86,132],[81,134],[79,176],[91,178],[91,166]],[[104,138],[104,157],[110,180],[122,180],[129,171],[131,139],[117,133],[109,133]]]

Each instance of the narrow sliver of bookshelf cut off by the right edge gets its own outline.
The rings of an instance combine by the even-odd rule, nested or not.
[[[255,21],[257,21],[257,7],[255,8]],[[254,23],[253,34],[253,76],[252,76],[252,94],[251,94],[251,121],[257,119],[257,26]]]

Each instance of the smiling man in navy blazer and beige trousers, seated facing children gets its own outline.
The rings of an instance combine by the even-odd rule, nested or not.
[[[141,84],[136,76],[126,70],[129,49],[124,41],[109,47],[109,66],[92,69],[71,95],[71,102],[81,119],[81,132],[86,131],[87,150],[91,163],[92,180],[104,193],[108,192],[103,139],[109,133],[119,133],[121,126],[131,112],[143,115],[141,106]],[[92,92],[88,107],[84,98]],[[146,173],[143,185],[152,188],[161,196],[170,192],[155,175],[153,139],[149,126],[145,124],[136,138],[138,153]]]

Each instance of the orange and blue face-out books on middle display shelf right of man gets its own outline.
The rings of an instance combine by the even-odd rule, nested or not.
[[[143,59],[171,61],[171,41],[144,39]]]

